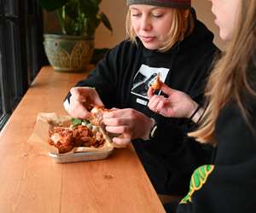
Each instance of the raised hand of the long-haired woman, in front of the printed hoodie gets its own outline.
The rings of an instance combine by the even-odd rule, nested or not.
[[[154,95],[154,89],[151,87],[148,89],[148,107],[154,112],[169,118],[190,118],[198,107],[189,95],[171,89],[165,83],[162,83],[161,90],[167,97]]]

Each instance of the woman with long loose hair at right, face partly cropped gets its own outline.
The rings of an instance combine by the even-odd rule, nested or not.
[[[149,89],[148,105],[168,117],[200,119],[189,136],[216,147],[213,164],[195,170],[177,212],[251,213],[256,199],[256,0],[212,0],[212,13],[229,45],[207,83],[206,111],[166,85],[166,99]]]

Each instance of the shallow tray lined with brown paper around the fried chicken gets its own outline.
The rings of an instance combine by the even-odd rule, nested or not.
[[[49,157],[55,160],[55,163],[71,163],[105,159],[113,153],[114,147],[119,147],[113,144],[111,138],[105,134],[104,137],[106,142],[103,147],[74,147],[69,153],[58,153],[57,148],[50,146],[48,143],[49,128],[52,121],[66,122],[68,120],[71,120],[71,117],[58,116],[55,113],[40,112],[28,142],[41,144],[49,152]]]

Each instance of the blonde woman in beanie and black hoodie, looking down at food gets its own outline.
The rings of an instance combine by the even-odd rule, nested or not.
[[[84,101],[115,107],[103,117],[106,130],[116,135],[113,142],[133,142],[157,193],[183,196],[206,154],[193,140],[187,145],[188,119],[164,118],[148,109],[147,91],[160,75],[201,104],[217,48],[212,32],[196,20],[190,0],[128,0],[127,5],[129,38],[71,89],[65,106],[75,118],[90,115]]]

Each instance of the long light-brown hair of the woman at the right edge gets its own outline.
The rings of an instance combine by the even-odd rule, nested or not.
[[[236,102],[249,124],[241,93],[246,89],[256,95],[247,76],[248,65],[256,50],[256,0],[241,0],[240,8],[236,30],[226,53],[218,60],[207,83],[207,110],[199,129],[189,133],[189,136],[202,143],[217,144],[214,132],[218,113],[229,101]]]

